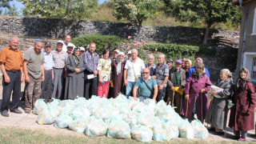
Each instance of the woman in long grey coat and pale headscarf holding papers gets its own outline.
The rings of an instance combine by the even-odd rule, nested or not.
[[[233,90],[233,79],[230,70],[221,70],[220,78],[221,82],[218,82],[217,86],[221,90],[216,91],[212,88],[212,101],[206,116],[206,122],[210,123],[211,128],[214,128],[217,134],[222,134],[222,130],[226,128],[227,100]]]

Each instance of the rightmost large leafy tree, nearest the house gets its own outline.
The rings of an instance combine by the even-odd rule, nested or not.
[[[166,13],[182,22],[204,22],[206,33],[203,44],[207,44],[210,26],[215,22],[226,22],[234,8],[231,0],[163,0]]]

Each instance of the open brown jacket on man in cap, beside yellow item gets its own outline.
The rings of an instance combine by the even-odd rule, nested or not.
[[[174,85],[174,72],[176,68],[173,66],[169,70],[169,79],[167,81],[167,86],[173,86]],[[181,86],[185,87],[186,85],[186,71],[180,68],[180,77],[181,77]]]

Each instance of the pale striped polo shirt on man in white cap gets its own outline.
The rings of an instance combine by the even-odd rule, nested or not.
[[[65,67],[67,54],[65,51],[58,53],[57,50],[53,50],[50,52],[54,58],[54,68],[62,69]]]

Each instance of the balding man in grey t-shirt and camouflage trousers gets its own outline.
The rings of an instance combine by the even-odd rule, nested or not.
[[[34,50],[27,50],[24,56],[24,74],[26,81],[25,113],[30,114],[34,103],[41,95],[41,84],[44,81],[44,55],[42,41],[34,44]]]

